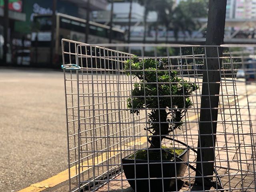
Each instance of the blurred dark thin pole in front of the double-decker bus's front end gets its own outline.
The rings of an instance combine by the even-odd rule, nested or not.
[[[56,28],[56,6],[57,0],[52,0],[52,34],[51,34],[51,47],[50,47],[50,65],[54,65],[53,56],[55,55],[54,52],[54,37],[55,37],[55,28]]]

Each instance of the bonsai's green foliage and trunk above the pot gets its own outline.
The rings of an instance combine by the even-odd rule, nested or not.
[[[169,70],[167,59],[132,58],[126,61],[126,74],[138,78],[134,84],[127,106],[131,113],[148,111],[148,138],[150,148],[160,148],[164,136],[180,129],[188,108],[193,103],[190,95],[198,89],[178,76],[178,71]]]

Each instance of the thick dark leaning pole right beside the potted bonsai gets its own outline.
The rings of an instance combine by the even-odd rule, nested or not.
[[[220,94],[219,82],[221,78],[219,70],[222,66],[222,59],[220,59],[222,48],[218,46],[224,43],[226,4],[227,0],[209,1],[206,45],[212,45],[212,47],[205,48],[206,60],[204,62],[198,152],[196,158],[196,169],[203,176],[213,175],[214,170],[214,147],[218,119],[218,95]],[[200,174],[197,173],[196,176],[200,176]],[[212,177],[208,177],[208,179],[212,179]],[[206,187],[209,187],[209,184],[205,180],[202,180],[202,178],[196,178],[196,184],[201,189],[203,188],[203,183],[204,190],[207,190]],[[192,190],[198,190],[198,188]]]

